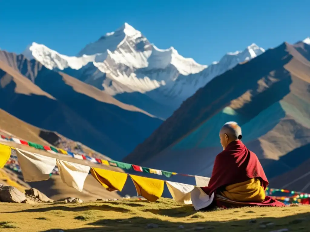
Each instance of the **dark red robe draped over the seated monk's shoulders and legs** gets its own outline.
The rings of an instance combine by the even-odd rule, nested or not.
[[[259,159],[241,141],[234,141],[216,156],[209,185],[202,187],[202,190],[210,196],[212,193],[216,194],[216,190],[220,187],[241,183],[252,178],[260,178],[262,187],[266,190],[269,182]],[[220,203],[217,202],[217,204]],[[269,196],[266,196],[263,202],[247,202],[246,205],[284,206]]]

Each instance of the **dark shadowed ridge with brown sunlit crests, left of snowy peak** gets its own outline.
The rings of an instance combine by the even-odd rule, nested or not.
[[[0,51],[0,108],[119,160],[162,120],[24,55]]]

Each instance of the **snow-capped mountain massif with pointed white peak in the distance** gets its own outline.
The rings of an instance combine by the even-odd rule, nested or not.
[[[23,54],[50,70],[62,71],[93,85],[119,101],[168,118],[183,101],[215,76],[262,54],[255,44],[226,54],[210,66],[184,58],[176,49],[158,49],[125,23],[115,32],[86,45],[77,56],[66,56],[32,43]]]

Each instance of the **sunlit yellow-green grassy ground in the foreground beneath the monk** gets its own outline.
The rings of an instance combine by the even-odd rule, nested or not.
[[[310,206],[252,207],[197,212],[171,199],[96,201],[82,204],[0,203],[0,231],[272,231],[306,232]],[[156,224],[158,228],[150,224]],[[149,226],[148,226],[149,225]],[[180,227],[179,227],[180,226]],[[181,227],[183,229],[181,229]]]

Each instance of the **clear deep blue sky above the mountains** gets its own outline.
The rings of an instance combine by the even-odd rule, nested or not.
[[[268,49],[310,36],[309,0],[0,0],[0,48],[33,41],[75,55],[127,22],[158,48],[210,64],[251,43]]]

